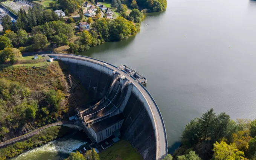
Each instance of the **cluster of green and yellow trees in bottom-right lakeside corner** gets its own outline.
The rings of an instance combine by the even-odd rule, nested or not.
[[[230,119],[213,109],[189,122],[181,146],[165,160],[255,160],[256,120]]]

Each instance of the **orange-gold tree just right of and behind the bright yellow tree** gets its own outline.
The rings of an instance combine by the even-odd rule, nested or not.
[[[236,147],[243,151],[245,155],[248,153],[249,141],[251,137],[249,135],[249,130],[238,131],[238,133],[233,133],[233,141]]]

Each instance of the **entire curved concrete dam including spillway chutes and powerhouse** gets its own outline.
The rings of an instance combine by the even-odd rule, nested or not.
[[[49,54],[66,64],[92,99],[76,108],[88,136],[104,141],[121,135],[144,160],[160,160],[168,152],[165,125],[152,96],[134,76],[120,67],[79,55]]]

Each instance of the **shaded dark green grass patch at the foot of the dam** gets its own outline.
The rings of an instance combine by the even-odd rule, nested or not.
[[[142,155],[125,140],[99,153],[101,160],[142,160]]]

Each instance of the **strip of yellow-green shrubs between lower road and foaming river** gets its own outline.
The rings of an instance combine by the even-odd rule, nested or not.
[[[53,126],[47,128],[39,133],[35,134],[33,137],[22,142],[14,143],[5,148],[0,149],[0,160],[5,160],[6,158],[12,158],[24,151],[32,148],[44,145],[47,142],[55,140],[57,138],[63,137],[71,131],[70,128],[66,126]]]

